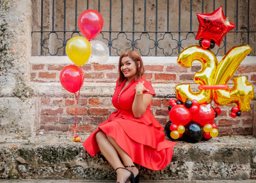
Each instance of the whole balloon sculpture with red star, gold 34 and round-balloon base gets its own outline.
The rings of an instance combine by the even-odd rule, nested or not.
[[[221,109],[211,107],[212,100],[218,105],[235,104],[230,113],[235,118],[241,111],[250,110],[250,101],[254,98],[253,86],[246,76],[235,77],[234,87],[230,90],[227,85],[252,48],[249,45],[233,47],[218,62],[210,49],[215,44],[220,46],[223,36],[236,26],[225,18],[222,7],[212,13],[198,13],[197,17],[200,25],[196,39],[200,40],[200,46],[184,49],[177,63],[191,67],[193,61],[200,61],[201,70],[194,76],[199,92],[193,92],[190,84],[178,84],[175,87],[177,100],[170,100],[170,121],[164,127],[170,139],[182,138],[189,142],[218,136],[218,127],[213,120],[220,115]]]

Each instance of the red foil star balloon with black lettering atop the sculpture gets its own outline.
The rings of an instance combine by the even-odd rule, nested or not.
[[[199,28],[196,40],[209,38],[220,46],[223,36],[236,26],[226,19],[222,7],[212,13],[196,13]]]

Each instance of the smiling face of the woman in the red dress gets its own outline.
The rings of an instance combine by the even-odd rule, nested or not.
[[[140,67],[140,61],[138,61]],[[124,74],[124,77],[127,79],[133,79],[137,73],[137,67],[135,61],[133,61],[129,56],[125,56],[121,61],[121,72]]]

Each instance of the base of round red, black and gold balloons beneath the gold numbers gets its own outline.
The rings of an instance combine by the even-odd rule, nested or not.
[[[189,142],[198,142],[202,138],[210,139],[218,136],[218,127],[213,123],[214,118],[220,115],[219,107],[210,104],[199,104],[197,100],[170,100],[169,118],[165,133],[171,139],[182,138]],[[169,128],[169,129],[168,129]],[[170,135],[168,135],[170,130]]]

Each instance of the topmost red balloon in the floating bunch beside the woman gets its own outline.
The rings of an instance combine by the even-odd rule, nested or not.
[[[79,16],[78,28],[88,40],[92,40],[103,28],[102,15],[96,10],[85,10]]]

